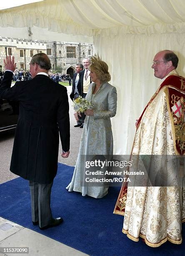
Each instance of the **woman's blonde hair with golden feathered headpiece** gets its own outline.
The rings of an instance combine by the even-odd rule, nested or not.
[[[110,73],[108,72],[108,65],[105,61],[100,59],[98,54],[94,54],[90,57],[91,64],[89,70],[95,72],[100,82],[105,83],[110,81]]]

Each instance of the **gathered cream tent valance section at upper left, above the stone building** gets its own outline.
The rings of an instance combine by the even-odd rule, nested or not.
[[[46,4],[46,2],[50,3]],[[58,33],[92,36],[92,30],[74,23],[56,0],[0,10],[0,27],[9,26],[18,28],[37,26]]]

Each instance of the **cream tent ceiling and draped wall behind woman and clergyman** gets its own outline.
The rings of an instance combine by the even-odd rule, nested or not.
[[[93,36],[95,52],[109,65],[118,92],[117,115],[112,118],[114,153],[129,154],[135,119],[161,82],[151,69],[154,55],[163,49],[175,51],[178,72],[185,75],[184,6],[185,0],[45,0],[1,10],[0,32],[3,27],[38,27],[45,29],[48,40],[55,40],[54,32],[77,35],[79,41]],[[37,33],[37,39],[42,34]]]

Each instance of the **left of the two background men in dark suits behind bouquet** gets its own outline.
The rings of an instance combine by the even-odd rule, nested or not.
[[[82,96],[82,86],[80,82],[80,71],[83,69],[82,63],[77,63],[75,70],[76,73],[73,75],[72,79],[72,92],[70,94],[71,100],[77,99],[79,96]],[[82,125],[82,117],[78,116],[77,124],[74,127],[79,127]]]

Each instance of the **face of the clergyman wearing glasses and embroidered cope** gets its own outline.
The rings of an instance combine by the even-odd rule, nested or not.
[[[163,59],[164,53],[159,52],[155,55],[153,59],[152,68],[154,69],[155,77],[163,79],[168,74],[168,61]]]

